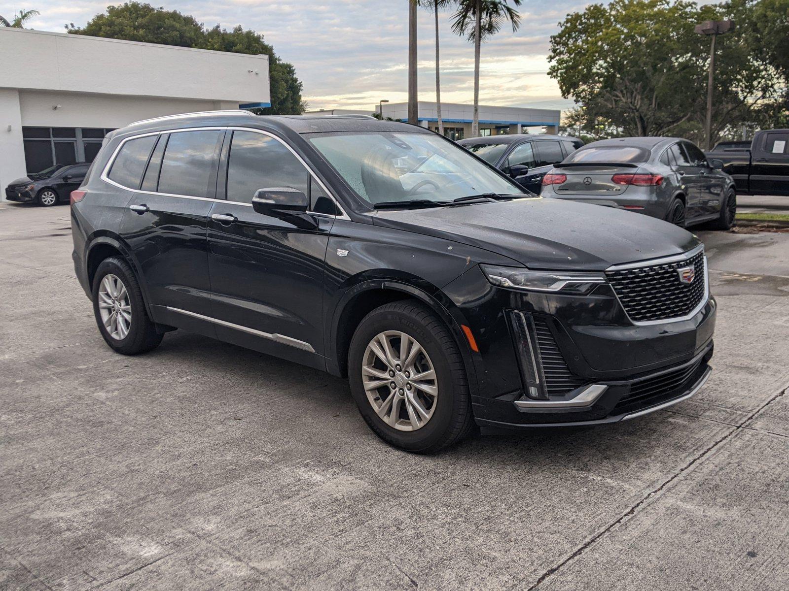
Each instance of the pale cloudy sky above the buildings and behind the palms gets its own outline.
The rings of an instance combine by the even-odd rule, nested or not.
[[[117,2],[121,3],[120,1]],[[207,26],[241,24],[264,35],[277,54],[294,64],[310,108],[369,108],[379,99],[406,100],[408,5],[406,0],[213,0],[168,2],[155,6],[191,14]],[[548,37],[565,15],[583,0],[554,0],[548,5],[525,0],[518,32],[503,30],[482,46],[483,104],[567,108],[559,88],[548,78]],[[15,10],[41,13],[28,28],[63,32],[66,23],[84,25],[110,2],[93,0],[0,0],[0,14]],[[439,14],[443,102],[471,102],[473,46],[451,32],[451,12]],[[435,100],[435,46],[432,13],[419,10],[420,99]]]

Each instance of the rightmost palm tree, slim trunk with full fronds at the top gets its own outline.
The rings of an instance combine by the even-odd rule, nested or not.
[[[509,21],[512,31],[518,30],[521,15],[508,0],[460,0],[458,12],[454,13],[452,30],[458,35],[467,35],[474,42],[474,118],[471,135],[480,135],[480,52],[483,39],[495,35]],[[512,0],[521,6],[522,0]]]

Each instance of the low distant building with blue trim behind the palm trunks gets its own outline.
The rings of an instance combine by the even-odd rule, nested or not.
[[[439,116],[435,102],[420,101],[417,110],[419,125],[438,131]],[[383,110],[382,110],[383,109]],[[408,119],[407,102],[382,102],[369,110],[358,109],[321,109],[304,113],[305,115],[343,115],[343,114],[380,113],[398,121]],[[499,136],[510,133],[556,133],[559,131],[561,111],[556,109],[533,109],[519,106],[480,105],[480,135]],[[455,102],[441,103],[441,119],[444,135],[451,139],[471,136],[471,122],[474,106]]]

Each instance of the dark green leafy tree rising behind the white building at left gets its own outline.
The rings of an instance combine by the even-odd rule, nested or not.
[[[107,6],[107,13],[97,14],[84,27],[66,25],[74,35],[92,35],[111,39],[127,39],[144,43],[159,43],[181,47],[195,47],[237,54],[266,54],[268,56],[271,107],[255,110],[260,114],[299,114],[303,110],[301,81],[290,63],[279,59],[274,48],[263,35],[244,30],[241,25],[228,31],[216,25],[207,29],[194,17],[177,10],[154,8],[141,2],[125,2]]]

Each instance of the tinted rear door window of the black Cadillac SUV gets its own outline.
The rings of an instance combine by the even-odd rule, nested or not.
[[[205,197],[219,141],[217,130],[171,133],[162,158],[159,192]]]

